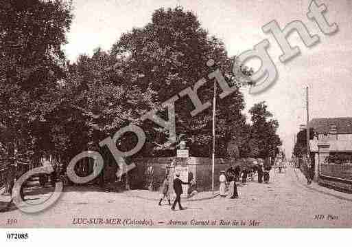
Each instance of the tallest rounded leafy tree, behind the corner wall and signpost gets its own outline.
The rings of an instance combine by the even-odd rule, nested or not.
[[[160,105],[183,89],[192,87],[201,78],[207,78],[215,67],[220,68],[226,83],[239,87],[239,79],[232,73],[233,61],[228,57],[222,41],[209,36],[195,14],[183,8],[159,9],[152,14],[152,22],[143,28],[133,28],[113,45],[112,54],[124,58],[134,85],[143,92],[151,89],[157,94],[152,101]],[[213,58],[215,67],[207,67]],[[247,71],[246,68],[243,68]],[[213,98],[213,81],[200,89],[202,103]],[[211,107],[197,116],[189,98],[180,98],[176,104],[176,133],[183,135],[191,155],[209,156],[211,151]],[[231,126],[242,119],[244,99],[237,90],[217,105],[217,155],[226,155],[226,145],[231,141]],[[165,115],[165,114],[164,114]],[[161,113],[161,116],[164,116]],[[164,116],[165,117],[165,116]],[[165,142],[165,133],[151,121],[143,123],[147,131],[146,147],[156,147]],[[148,153],[153,153],[149,150]],[[163,151],[165,153],[165,151]],[[155,153],[155,151],[154,151]],[[169,153],[167,153],[169,155]]]

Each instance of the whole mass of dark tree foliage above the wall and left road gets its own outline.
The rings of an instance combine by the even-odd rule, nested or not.
[[[243,80],[253,73],[233,64],[222,41],[210,36],[193,12],[159,9],[150,23],[121,35],[110,51],[97,48],[68,63],[61,50],[72,21],[71,2],[2,1],[0,8],[0,151],[19,149],[36,157],[51,153],[65,163],[131,123],[143,128],[147,142],[136,155],[175,155],[175,145],[161,144],[167,132],[151,120],[140,120],[152,109],[167,120],[161,104],[178,95],[176,135],[187,141],[190,155],[211,153],[214,79],[219,69],[234,92],[220,98],[217,85],[216,155],[228,155],[228,143],[242,156],[270,154],[281,142],[278,123],[265,104],[251,109],[253,125],[246,123]],[[215,64],[207,66],[209,59]],[[235,66],[236,69],[233,69]],[[234,74],[235,72],[242,72]],[[180,92],[203,79],[197,94],[204,111],[191,115],[194,106]],[[263,132],[264,131],[264,132]],[[117,145],[134,147],[137,138],[125,134]],[[13,144],[10,147],[9,144]],[[158,147],[163,147],[158,150]]]

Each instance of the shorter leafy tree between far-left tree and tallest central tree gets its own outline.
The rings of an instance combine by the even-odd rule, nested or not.
[[[65,125],[71,126],[62,133],[69,136],[69,157],[78,151],[99,149],[99,141],[130,123],[138,123],[141,114],[152,109],[150,98],[154,92],[142,92],[136,87],[137,78],[121,58],[99,48],[93,56],[81,55],[69,65],[61,92],[66,115],[60,115]],[[119,149],[130,150],[135,141],[127,134],[119,139]]]

